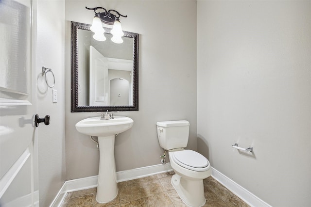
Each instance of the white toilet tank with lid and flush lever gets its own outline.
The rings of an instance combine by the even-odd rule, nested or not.
[[[157,138],[163,149],[184,148],[189,139],[189,121],[156,122]]]

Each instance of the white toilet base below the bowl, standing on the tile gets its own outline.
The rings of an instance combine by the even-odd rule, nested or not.
[[[181,200],[190,207],[201,207],[205,204],[203,180],[189,180],[180,175],[173,175],[172,185]]]

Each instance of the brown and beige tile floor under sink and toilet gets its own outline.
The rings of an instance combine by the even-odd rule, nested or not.
[[[186,207],[171,184],[174,173],[163,173],[118,183],[118,196],[96,202],[96,188],[69,192],[61,207]],[[249,207],[211,176],[204,179],[204,207]]]

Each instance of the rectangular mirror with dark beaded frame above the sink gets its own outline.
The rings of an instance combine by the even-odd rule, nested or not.
[[[71,22],[71,112],[138,111],[138,34],[97,41],[90,26]]]

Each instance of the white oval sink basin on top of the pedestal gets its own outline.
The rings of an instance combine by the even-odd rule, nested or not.
[[[89,136],[105,137],[130,129],[133,123],[133,119],[126,116],[115,116],[108,120],[101,120],[99,116],[81,120],[76,124],[76,129]]]

